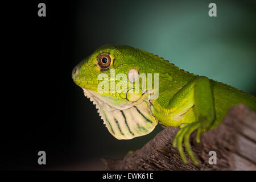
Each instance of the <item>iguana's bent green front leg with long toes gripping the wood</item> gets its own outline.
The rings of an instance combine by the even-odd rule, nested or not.
[[[182,146],[184,140],[188,155],[195,164],[198,164],[189,144],[189,136],[193,131],[197,130],[196,140],[200,142],[200,134],[209,129],[210,124],[214,121],[213,94],[209,79],[207,77],[197,77],[189,82],[172,97],[167,109],[170,111],[168,113],[170,117],[179,114],[184,115],[181,126],[187,123],[176,134],[173,146],[177,147],[181,159],[184,163],[187,163]],[[188,121],[188,115],[185,115],[188,112],[195,115],[195,121]]]

